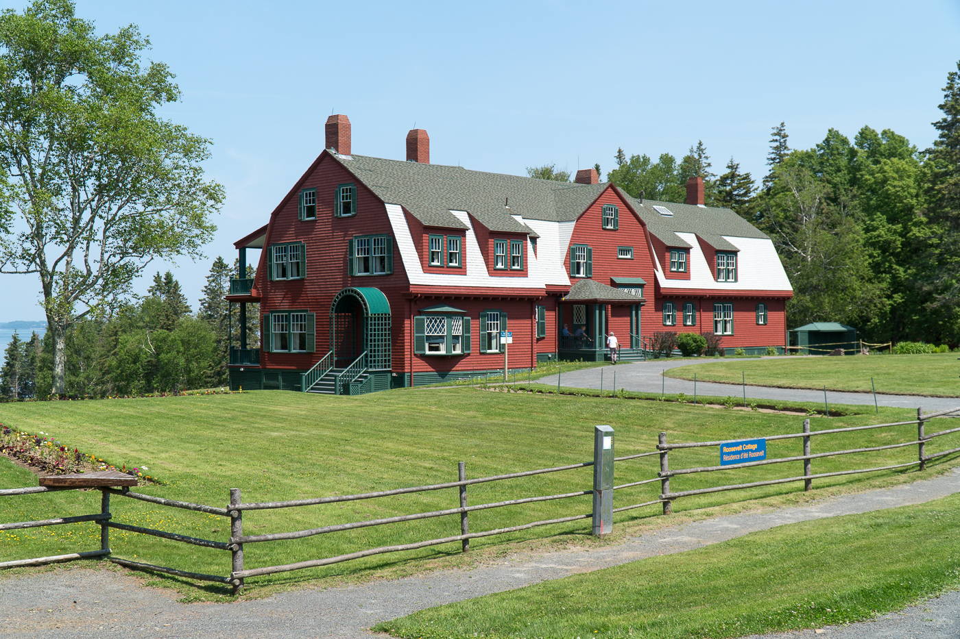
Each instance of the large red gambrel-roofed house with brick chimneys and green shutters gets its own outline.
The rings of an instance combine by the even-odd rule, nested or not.
[[[326,150],[235,243],[262,249],[228,300],[259,302],[261,348],[230,350],[230,386],[359,393],[548,359],[624,359],[663,330],[715,332],[748,352],[786,343],[793,295],[770,239],[729,209],[640,201],[592,169],[575,183],[353,155],[344,115]],[[244,322],[241,322],[245,325]],[[587,338],[564,337],[563,327]],[[507,346],[501,332],[513,334]]]

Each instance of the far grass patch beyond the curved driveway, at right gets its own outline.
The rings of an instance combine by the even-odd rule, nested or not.
[[[747,384],[783,389],[852,390],[906,395],[960,397],[960,362],[956,353],[929,355],[859,355],[845,357],[790,357],[770,360],[711,362],[671,368],[667,377],[702,382]]]

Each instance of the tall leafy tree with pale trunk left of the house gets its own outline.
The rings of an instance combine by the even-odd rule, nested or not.
[[[65,391],[67,328],[156,258],[197,257],[223,188],[210,141],[158,117],[180,99],[133,25],[98,36],[69,0],[0,15],[0,272],[36,274]]]

